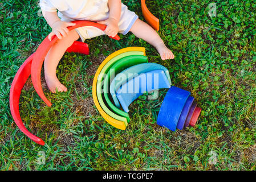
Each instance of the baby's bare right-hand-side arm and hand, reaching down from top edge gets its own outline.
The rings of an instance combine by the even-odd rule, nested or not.
[[[121,0],[108,0],[108,7],[109,18],[97,23],[107,25],[107,28],[104,31],[105,34],[114,37],[118,32],[118,22],[121,16]]]

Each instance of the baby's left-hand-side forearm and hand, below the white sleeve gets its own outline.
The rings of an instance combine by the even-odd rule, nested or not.
[[[49,26],[52,28],[52,32],[49,34],[48,39],[51,40],[52,36],[56,35],[59,39],[62,39],[63,37],[66,37],[69,30],[67,27],[74,26],[75,23],[70,22],[63,22],[59,19],[57,16],[57,12],[51,12],[51,11],[43,11],[44,19],[46,19],[46,22],[49,24]]]

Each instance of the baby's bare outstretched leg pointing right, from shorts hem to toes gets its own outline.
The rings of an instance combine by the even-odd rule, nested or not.
[[[154,46],[159,52],[162,60],[174,59],[172,51],[165,46],[157,32],[147,23],[137,19],[130,31],[138,38],[141,38]]]

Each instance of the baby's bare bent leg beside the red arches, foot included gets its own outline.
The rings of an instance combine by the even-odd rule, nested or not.
[[[55,93],[56,89],[58,92],[67,91],[66,86],[59,82],[56,76],[56,69],[67,48],[78,39],[78,33],[75,30],[72,30],[66,37],[59,39],[46,55],[44,60],[44,77],[46,79],[47,86],[52,93]]]

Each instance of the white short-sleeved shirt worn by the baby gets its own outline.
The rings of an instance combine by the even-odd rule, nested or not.
[[[62,20],[103,20],[109,14],[108,0],[40,0],[44,11],[59,11]]]

